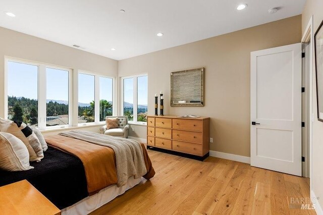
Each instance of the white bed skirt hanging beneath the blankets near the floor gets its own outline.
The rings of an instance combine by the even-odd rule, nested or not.
[[[109,187],[106,187],[100,190],[98,193],[92,196],[88,196],[82,199],[81,201],[76,202],[75,204],[62,209],[62,214],[63,215],[88,214],[93,210],[106,204],[107,202],[112,201],[117,196],[125,193],[127,190],[133,188],[141,181],[145,181],[145,179],[142,177],[138,179],[134,179],[132,176],[128,179],[127,183],[124,186],[117,187],[117,185],[114,184]]]

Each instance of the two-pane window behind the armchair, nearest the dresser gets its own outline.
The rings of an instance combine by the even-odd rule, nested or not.
[[[123,114],[129,121],[145,124],[148,110],[148,76],[137,75],[123,80]]]

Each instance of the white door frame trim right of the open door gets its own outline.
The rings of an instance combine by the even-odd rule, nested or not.
[[[308,137],[308,144],[309,144],[309,181],[310,181],[310,190],[312,187],[312,123],[314,121],[314,116],[313,116],[313,105],[312,105],[312,100],[313,100],[313,95],[312,95],[312,90],[313,90],[313,51],[314,51],[314,32],[313,32],[313,15],[310,17],[308,24],[306,26],[306,29],[304,31],[304,34],[302,36],[301,42],[310,42],[310,47],[309,47],[309,73],[308,73],[308,86],[309,89],[307,90],[309,94],[309,113],[308,113],[308,129],[309,129],[309,137]],[[306,91],[305,91],[306,92]]]

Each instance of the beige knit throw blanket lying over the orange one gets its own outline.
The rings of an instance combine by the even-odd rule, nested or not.
[[[88,131],[69,131],[59,135],[112,148],[116,154],[117,186],[126,184],[129,177],[140,178],[147,173],[139,142]]]

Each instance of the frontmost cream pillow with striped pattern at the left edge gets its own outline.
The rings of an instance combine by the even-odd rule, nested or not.
[[[10,133],[0,132],[0,169],[6,171],[30,170],[26,145]]]

